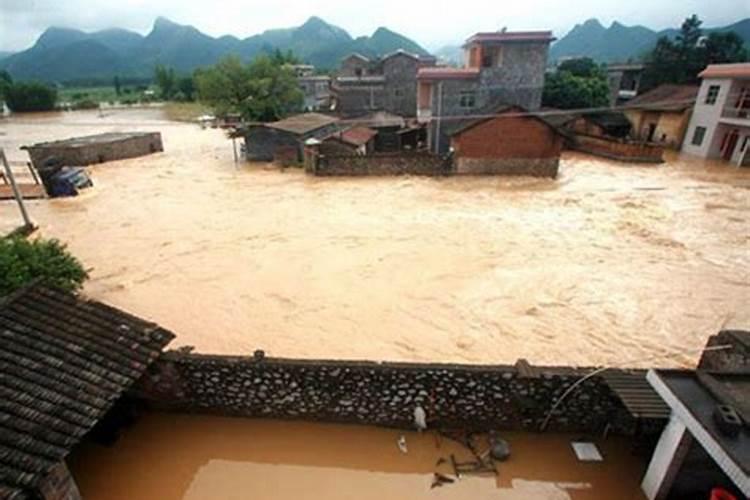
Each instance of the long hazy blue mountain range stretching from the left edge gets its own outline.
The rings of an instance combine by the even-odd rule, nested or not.
[[[352,38],[345,30],[311,17],[303,25],[267,30],[245,39],[233,36],[214,38],[189,25],[164,17],[154,21],[146,36],[123,29],[93,33],[51,27],[29,49],[0,59],[18,80],[49,82],[121,77],[150,77],[156,64],[188,73],[216,63],[222,56],[239,55],[249,60],[261,53],[291,50],[303,61],[320,68],[335,68],[351,52],[375,57],[403,49],[420,55],[425,51],[416,42],[387,28],[372,36]]]

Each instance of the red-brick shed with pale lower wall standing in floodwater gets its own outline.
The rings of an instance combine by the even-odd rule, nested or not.
[[[518,106],[495,108],[488,118],[445,125],[458,174],[556,177],[563,138]]]

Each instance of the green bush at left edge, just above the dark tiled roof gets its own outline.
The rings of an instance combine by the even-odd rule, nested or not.
[[[64,290],[78,290],[88,278],[83,265],[57,240],[0,239],[0,296],[32,280]]]

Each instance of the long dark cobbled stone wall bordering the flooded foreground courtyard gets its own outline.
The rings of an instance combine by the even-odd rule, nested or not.
[[[289,360],[167,353],[140,384],[161,409],[410,428],[538,430],[554,402],[588,370],[516,366]],[[554,413],[549,429],[630,433],[634,422],[593,377]]]

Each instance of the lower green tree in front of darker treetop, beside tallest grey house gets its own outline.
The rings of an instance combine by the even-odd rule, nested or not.
[[[583,77],[570,71],[558,71],[546,78],[542,101],[544,106],[559,109],[606,107],[609,85],[601,74]]]

